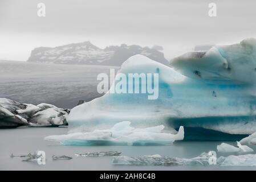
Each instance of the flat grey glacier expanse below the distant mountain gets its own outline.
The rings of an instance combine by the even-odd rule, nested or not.
[[[114,67],[0,61],[0,97],[71,109],[79,100],[102,95],[97,93],[97,75],[109,74],[110,68]]]

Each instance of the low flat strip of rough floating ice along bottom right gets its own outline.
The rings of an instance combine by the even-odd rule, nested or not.
[[[138,165],[138,166],[210,166],[210,155],[204,152],[200,156],[191,159],[172,158],[160,155],[145,155],[138,157],[115,156],[113,164]],[[256,166],[256,154],[220,156],[216,159],[218,166]]]

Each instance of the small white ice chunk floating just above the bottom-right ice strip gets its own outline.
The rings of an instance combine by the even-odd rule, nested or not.
[[[217,150],[218,152],[253,152],[252,148],[242,145],[240,142],[237,142],[237,146],[234,147],[227,143],[221,143],[217,146]]]

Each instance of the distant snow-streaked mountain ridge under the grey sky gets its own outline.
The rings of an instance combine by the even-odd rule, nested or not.
[[[164,53],[149,47],[136,45],[109,46],[104,49],[94,46],[91,42],[68,44],[55,48],[39,47],[31,52],[30,62],[56,64],[91,64],[120,66],[129,57],[141,54],[160,63],[168,65]]]

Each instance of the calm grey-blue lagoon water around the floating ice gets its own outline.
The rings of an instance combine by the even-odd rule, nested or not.
[[[256,170],[256,167],[221,166],[116,166],[111,156],[77,157],[93,151],[120,151],[125,156],[155,155],[193,158],[202,152],[217,151],[219,141],[177,141],[170,146],[62,146],[44,140],[48,135],[67,134],[67,127],[24,127],[0,130],[0,170]],[[235,142],[226,142],[235,145]],[[253,146],[256,150],[256,146]],[[22,162],[10,155],[27,155],[34,151],[46,152],[46,164]],[[255,154],[255,153],[253,153]],[[71,156],[71,160],[52,160],[52,155]],[[217,157],[231,154],[217,152]],[[234,154],[235,155],[235,154]]]

